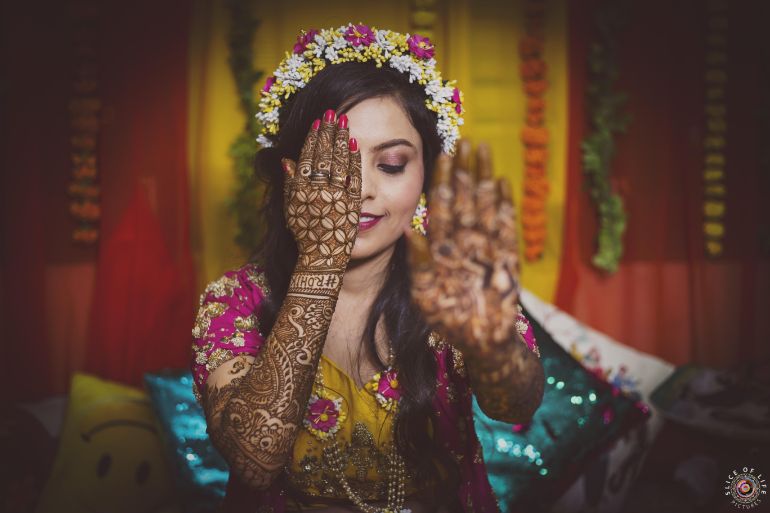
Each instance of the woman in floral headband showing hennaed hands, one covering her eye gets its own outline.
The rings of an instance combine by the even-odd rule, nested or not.
[[[267,233],[193,329],[222,511],[499,511],[472,395],[526,422],[543,368],[510,186],[459,140],[462,96],[433,53],[419,35],[312,30],[265,85]]]

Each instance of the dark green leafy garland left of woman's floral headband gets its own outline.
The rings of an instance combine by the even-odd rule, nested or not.
[[[255,98],[255,88],[262,79],[262,72],[254,69],[252,48],[259,20],[254,18],[250,1],[228,0],[227,8],[230,11],[230,32],[227,38],[230,51],[228,62],[238,91],[241,111],[246,117],[243,131],[233,141],[228,151],[228,155],[233,159],[236,182],[228,210],[236,218],[235,243],[246,254],[251,254],[257,247],[264,230],[258,209],[264,188],[254,173],[254,157],[259,150],[254,143],[259,134],[256,118],[259,96]]]

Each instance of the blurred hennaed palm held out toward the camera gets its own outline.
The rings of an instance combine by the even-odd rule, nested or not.
[[[425,240],[411,228],[412,296],[428,324],[477,356],[515,335],[519,259],[511,189],[495,180],[489,147],[458,144],[436,160]]]

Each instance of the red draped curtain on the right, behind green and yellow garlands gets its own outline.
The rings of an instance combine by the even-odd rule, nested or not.
[[[590,264],[596,211],[580,165],[593,9],[570,4],[568,199],[556,302],[625,344],[677,364],[724,367],[767,358],[770,179],[767,163],[760,164],[759,114],[768,94],[767,78],[762,90],[759,77],[767,4],[731,3],[728,14],[727,235],[725,255],[716,260],[704,256],[702,237],[706,2],[630,6],[629,24],[618,35],[617,89],[628,93],[633,120],[617,136],[612,166],[628,224],[620,269],[607,276]]]

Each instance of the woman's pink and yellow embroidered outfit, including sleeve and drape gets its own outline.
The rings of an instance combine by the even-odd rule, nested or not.
[[[256,355],[267,334],[259,325],[263,300],[269,294],[264,274],[256,264],[228,271],[211,282],[200,299],[193,328],[193,391],[200,399],[208,375],[240,353]],[[519,314],[516,327],[527,346],[539,355],[532,328]],[[437,363],[434,398],[438,426],[433,434],[457,460],[462,482],[458,499],[466,512],[499,512],[487,480],[481,445],[473,424],[472,392],[462,355],[431,334],[429,345]],[[301,490],[313,504],[346,497],[321,456],[320,432],[333,432],[346,460],[345,474],[354,489],[367,500],[386,496],[386,454],[392,444],[392,400],[398,398],[396,376],[378,373],[364,388],[334,362],[322,355],[319,363],[324,387],[314,388],[308,403],[304,429],[294,443],[292,461],[284,479],[263,492],[255,492],[231,479],[221,511],[290,511],[287,490]],[[390,385],[395,385],[391,387]],[[407,484],[406,494],[415,492]]]

